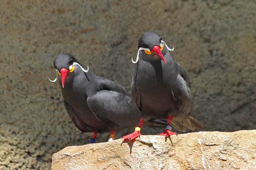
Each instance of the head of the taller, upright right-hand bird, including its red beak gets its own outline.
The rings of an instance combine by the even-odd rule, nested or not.
[[[166,60],[163,56],[163,44],[162,38],[158,33],[155,32],[145,32],[139,38],[138,50],[144,50],[144,53],[147,55],[155,55],[162,59],[165,63]],[[147,48],[145,50],[144,48]],[[143,53],[143,52],[142,52]]]

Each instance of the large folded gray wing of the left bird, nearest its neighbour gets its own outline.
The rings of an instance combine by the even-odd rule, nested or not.
[[[98,91],[87,98],[87,104],[109,128],[136,126],[141,116],[129,95],[112,90]]]

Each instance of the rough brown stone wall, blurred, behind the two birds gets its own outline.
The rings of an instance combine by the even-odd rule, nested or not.
[[[256,129],[253,0],[3,0],[0,5],[0,169],[48,170],[52,153],[89,142],[63,106],[53,61],[73,54],[130,90],[137,42],[156,31],[190,79],[205,131]],[[142,134],[162,129],[144,128]],[[133,131],[128,129],[123,133]],[[119,136],[122,134],[119,134]],[[98,142],[105,141],[104,134]]]

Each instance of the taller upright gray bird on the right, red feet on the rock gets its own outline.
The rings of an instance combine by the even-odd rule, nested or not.
[[[145,32],[138,42],[136,68],[131,82],[133,102],[141,111],[139,126],[123,139],[134,140],[141,136],[144,120],[167,120],[163,133],[168,138],[177,135],[172,127],[185,132],[186,128],[204,128],[191,111],[191,92],[185,69],[172,57],[169,48],[156,32]]]

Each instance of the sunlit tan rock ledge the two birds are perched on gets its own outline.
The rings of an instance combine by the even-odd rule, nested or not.
[[[53,154],[52,170],[254,170],[256,130],[141,136],[66,147]]]

